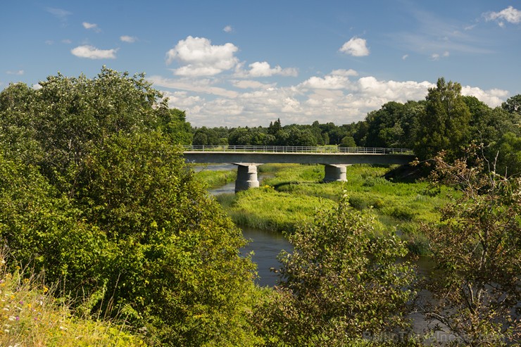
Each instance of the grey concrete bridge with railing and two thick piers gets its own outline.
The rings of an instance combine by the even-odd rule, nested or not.
[[[257,166],[265,163],[325,165],[324,182],[346,181],[352,164],[407,164],[415,158],[410,149],[303,146],[184,146],[188,163],[237,165],[235,191],[258,187]]]

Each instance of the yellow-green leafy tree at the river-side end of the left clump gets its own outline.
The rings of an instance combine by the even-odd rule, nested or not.
[[[102,302],[114,296],[163,343],[238,343],[254,266],[183,161],[161,135],[118,134],[78,169],[77,206],[117,247]]]

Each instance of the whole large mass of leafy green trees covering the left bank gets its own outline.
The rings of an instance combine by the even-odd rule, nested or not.
[[[184,113],[144,75],[103,68],[41,86],[0,93],[0,238],[13,259],[148,343],[256,343],[255,265],[175,145]]]

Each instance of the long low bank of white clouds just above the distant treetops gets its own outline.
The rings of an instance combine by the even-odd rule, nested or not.
[[[268,126],[277,118],[283,124],[310,124],[313,120],[349,124],[363,120],[389,101],[423,100],[428,89],[436,86],[427,81],[358,77],[355,70],[333,70],[293,86],[217,77],[153,76],[149,80],[154,87],[167,90],[170,106],[187,111],[192,125],[209,127]],[[501,89],[484,91],[477,87],[463,87],[463,94],[475,95],[489,106],[498,106],[508,97]]]

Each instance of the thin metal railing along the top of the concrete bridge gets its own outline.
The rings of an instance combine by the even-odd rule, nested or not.
[[[414,154],[411,149],[337,146],[206,146],[184,145],[184,151],[264,152],[264,153],[357,153],[357,154]]]

